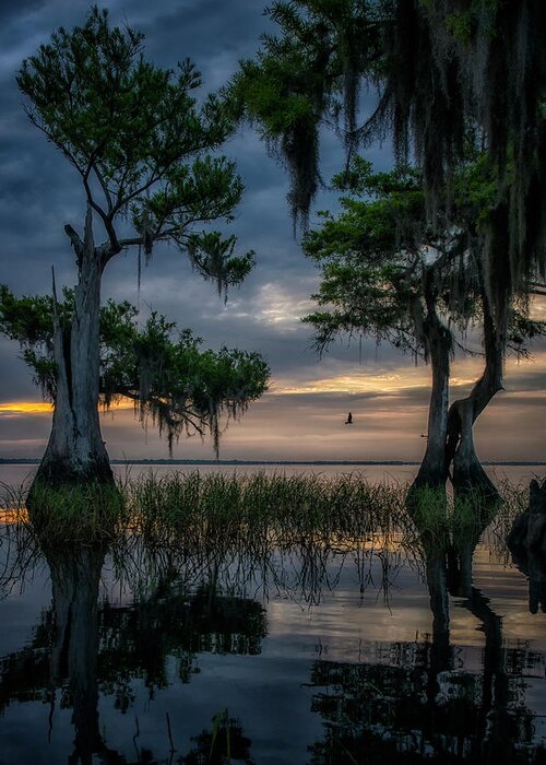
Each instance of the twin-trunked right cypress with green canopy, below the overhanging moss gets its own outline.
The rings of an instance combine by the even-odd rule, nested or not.
[[[443,228],[429,221],[415,168],[373,174],[369,163],[355,157],[335,184],[351,190],[341,200],[341,213],[321,213],[321,226],[304,238],[305,252],[321,271],[313,295],[319,308],[304,321],[314,327],[319,350],[339,334],[371,334],[430,360],[427,451],[416,487],[444,485],[453,461],[456,487],[480,484],[492,495],[475,455],[472,428],[502,387],[506,348],[529,355],[529,341],[546,334],[546,323],[533,320],[529,302],[512,295],[506,336],[498,341],[483,266],[495,199],[488,163],[479,156],[459,167],[449,198],[443,198],[452,221]],[[446,220],[441,207],[438,215]],[[449,408],[454,352],[480,353],[471,351],[468,330],[482,334],[484,370],[470,396]]]

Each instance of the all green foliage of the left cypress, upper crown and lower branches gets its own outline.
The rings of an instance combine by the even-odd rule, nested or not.
[[[57,304],[52,297],[15,298],[0,287],[0,331],[20,343],[35,381],[55,403],[62,380],[70,390],[59,401],[70,402],[73,381],[85,378],[85,369],[73,375],[71,354],[76,343],[92,345],[96,334],[90,330],[80,339],[73,316],[78,304],[95,320],[98,290],[93,292],[90,274],[97,263],[102,273],[131,246],[139,248],[140,263],[141,251],[147,259],[156,243],[173,242],[224,294],[254,263],[253,251],[237,255],[234,235],[200,229],[232,221],[244,191],[235,164],[217,154],[235,128],[233,107],[216,94],[198,101],[201,78],[193,64],[163,70],[146,61],[143,43],[129,26],[110,26],[108,11],[95,5],[83,26],[55,32],[17,76],[29,119],[75,167],[87,198],[83,235],[64,227],[79,269],[74,292],[64,291]],[[99,246],[93,216],[107,235]],[[122,239],[117,226],[127,220],[134,236]],[[158,314],[141,327],[130,304],[108,302],[99,314],[102,402],[133,400],[141,417],[151,416],[166,433],[169,448],[182,431],[210,431],[217,451],[219,419],[242,413],[265,390],[270,373],[257,353],[199,345],[189,330],[177,333]],[[96,349],[88,350],[92,358]]]

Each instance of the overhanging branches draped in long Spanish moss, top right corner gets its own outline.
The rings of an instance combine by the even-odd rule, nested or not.
[[[487,150],[496,191],[484,278],[501,340],[510,293],[545,267],[544,2],[277,0],[268,12],[278,35],[263,36],[233,91],[289,169],[295,219],[307,219],[321,183],[324,126],[348,158],[391,137],[399,163],[416,160],[432,223],[468,145]],[[377,97],[359,119],[361,92]]]

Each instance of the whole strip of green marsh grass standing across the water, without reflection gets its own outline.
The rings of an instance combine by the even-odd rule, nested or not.
[[[263,549],[271,544],[351,546],[381,538],[383,546],[402,539],[405,546],[443,543],[450,536],[491,533],[506,538],[527,491],[503,483],[505,501],[491,508],[479,497],[454,501],[442,492],[422,490],[412,513],[408,486],[371,483],[356,473],[264,472],[226,474],[173,472],[142,474],[116,484],[86,483],[51,489],[34,484],[32,526],[51,544],[66,541],[115,541],[141,537],[155,548],[188,551]],[[25,487],[0,485],[10,522],[27,522]]]

